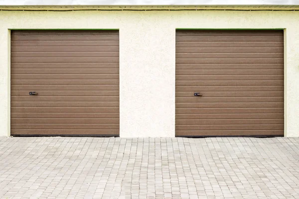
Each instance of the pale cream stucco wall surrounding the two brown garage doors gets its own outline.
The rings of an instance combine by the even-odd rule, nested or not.
[[[175,28],[285,28],[285,136],[299,136],[298,11],[0,11],[0,136],[9,136],[8,29],[119,29],[120,136],[174,137]]]

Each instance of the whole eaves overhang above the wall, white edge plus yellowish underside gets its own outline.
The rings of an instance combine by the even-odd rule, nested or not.
[[[299,0],[0,0],[2,10],[299,10]]]

